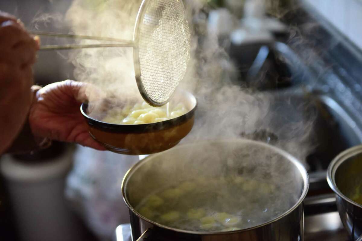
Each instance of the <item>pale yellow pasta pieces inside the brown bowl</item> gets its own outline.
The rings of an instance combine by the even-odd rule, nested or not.
[[[173,119],[187,112],[181,103],[170,106],[169,110],[167,113],[166,106],[152,107],[143,102],[142,104],[137,103],[133,107],[110,109],[102,121],[111,124],[140,125]]]

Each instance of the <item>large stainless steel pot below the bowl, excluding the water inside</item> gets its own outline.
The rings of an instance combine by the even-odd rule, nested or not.
[[[230,161],[231,159],[233,160]],[[291,208],[257,227],[231,232],[175,229],[155,223],[135,210],[144,197],[165,185],[177,184],[190,177],[213,177],[222,172],[223,175],[228,175],[229,172],[237,171],[239,165],[253,166],[254,171],[261,166],[264,171],[277,170],[280,180],[288,182],[290,190],[295,194]],[[229,172],[225,173],[226,169]],[[122,194],[130,209],[133,241],[146,238],[147,241],[298,241],[303,240],[303,200],[308,185],[306,169],[291,155],[262,142],[237,139],[179,145],[148,156],[126,173]]]

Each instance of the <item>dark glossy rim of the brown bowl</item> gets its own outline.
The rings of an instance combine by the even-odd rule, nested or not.
[[[150,124],[139,124],[139,125],[123,125],[123,124],[110,124],[107,122],[96,120],[87,115],[88,103],[82,103],[80,106],[80,112],[85,117],[89,126],[92,126],[96,129],[102,130],[104,132],[111,133],[146,133],[146,132],[155,132],[158,130],[165,130],[172,128],[176,125],[180,125],[189,119],[191,119],[195,115],[195,110],[197,108],[197,99],[193,94],[187,91],[180,91],[183,95],[188,95],[194,102],[194,107],[187,113],[182,116],[166,120],[160,121]]]

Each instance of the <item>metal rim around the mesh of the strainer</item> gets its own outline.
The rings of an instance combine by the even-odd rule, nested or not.
[[[150,2],[151,2],[151,0],[143,0],[139,7],[138,13],[137,13],[136,23],[135,23],[135,27],[134,27],[134,31],[133,31],[133,61],[134,61],[136,83],[137,83],[137,87],[138,87],[138,90],[139,90],[142,98],[151,106],[159,107],[159,106],[164,106],[172,98],[172,96],[176,92],[176,90],[173,91],[173,94],[171,96],[169,96],[169,98],[167,100],[165,100],[162,103],[157,103],[157,102],[154,102],[147,95],[146,89],[143,86],[142,76],[141,76],[141,66],[140,66],[140,61],[139,61],[139,47],[138,47],[139,46],[139,35],[140,35],[139,26],[143,22],[144,14],[145,14],[148,4]],[[182,7],[185,8],[182,0],[180,0],[180,3],[182,5]]]

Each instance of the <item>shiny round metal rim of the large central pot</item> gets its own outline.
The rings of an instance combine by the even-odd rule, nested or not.
[[[288,152],[286,151],[283,151],[282,149],[279,149],[278,147],[275,147],[275,146],[271,146],[269,144],[266,144],[264,142],[260,142],[260,141],[253,141],[253,140],[250,140],[250,139],[243,139],[243,138],[240,138],[240,139],[221,139],[221,140],[218,140],[218,141],[202,141],[202,142],[197,142],[198,144],[199,143],[225,143],[225,142],[239,142],[241,144],[243,143],[247,143],[247,144],[256,144],[256,145],[259,145],[259,146],[264,146],[264,147],[267,147],[271,150],[274,150],[276,153],[284,156],[285,158],[287,158],[288,160],[290,160],[295,166],[296,168],[298,168],[300,174],[302,175],[302,178],[303,178],[303,182],[304,182],[304,185],[303,185],[303,192],[302,194],[300,195],[298,201],[291,207],[289,208],[289,210],[285,211],[283,214],[277,216],[276,218],[266,222],[266,223],[262,223],[260,225],[257,225],[257,226],[254,226],[254,227],[250,227],[250,228],[245,228],[245,229],[239,229],[239,230],[235,230],[235,231],[224,231],[224,232],[198,232],[198,231],[187,231],[187,230],[183,230],[183,229],[177,229],[177,228],[172,228],[172,227],[168,227],[166,225],[162,225],[162,224],[159,224],[159,223],[156,223],[155,221],[152,221],[150,219],[147,219],[146,217],[140,215],[131,205],[130,203],[128,202],[127,198],[126,198],[126,191],[125,191],[125,186],[126,186],[126,182],[127,180],[129,179],[130,175],[132,173],[134,173],[137,168],[142,165],[144,162],[147,162],[147,160],[149,159],[152,159],[154,156],[158,156],[158,155],[162,155],[163,152],[159,152],[157,154],[152,154],[150,156],[147,156],[146,158],[144,158],[143,160],[141,160],[140,162],[136,163],[135,165],[133,165],[125,174],[125,176],[123,177],[123,180],[122,180],[122,197],[123,197],[123,201],[126,203],[127,207],[136,215],[138,216],[140,219],[143,219],[143,220],[146,220],[148,223],[151,223],[153,225],[155,225],[156,227],[160,227],[160,228],[164,228],[164,229],[167,229],[167,230],[171,230],[171,231],[174,231],[174,232],[181,232],[181,233],[189,233],[189,234],[206,234],[206,235],[214,235],[214,234],[225,234],[225,233],[239,233],[239,232],[244,232],[244,231],[249,231],[249,230],[252,230],[252,229],[256,229],[256,228],[260,228],[260,227],[263,227],[263,226],[266,226],[268,224],[271,224],[271,223],[274,223],[275,221],[278,221],[282,218],[284,218],[285,216],[289,215],[292,211],[294,211],[299,205],[301,205],[304,201],[304,198],[306,197],[307,195],[307,192],[308,192],[308,189],[309,189],[309,177],[308,177],[308,173],[307,173],[307,170],[306,168],[304,168],[303,164],[299,162],[298,159],[296,159],[294,156],[292,156],[291,154],[289,154]],[[188,143],[188,144],[184,144],[184,145],[179,145],[178,147],[174,147],[174,148],[179,148],[179,147],[187,147],[187,146],[192,146],[194,147],[195,143]],[[172,149],[169,149],[167,151],[172,151]]]

